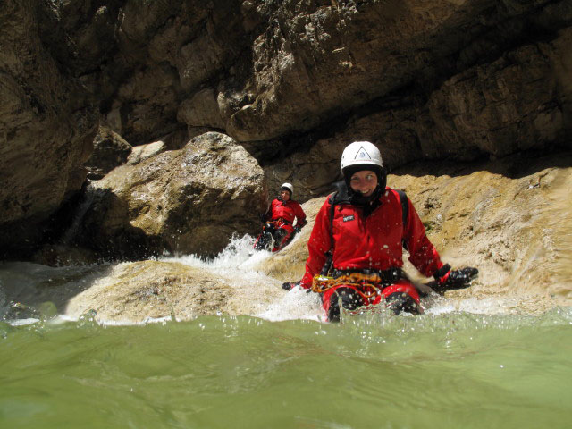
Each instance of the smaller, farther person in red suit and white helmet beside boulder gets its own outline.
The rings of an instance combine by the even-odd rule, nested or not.
[[[272,251],[280,250],[294,238],[293,234],[299,233],[307,223],[302,206],[292,199],[294,187],[290,183],[283,183],[279,192],[278,198],[273,199],[268,211],[261,216],[260,220],[265,223],[265,227],[254,244],[256,249],[268,248],[272,236],[274,243]]]

